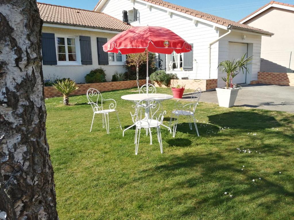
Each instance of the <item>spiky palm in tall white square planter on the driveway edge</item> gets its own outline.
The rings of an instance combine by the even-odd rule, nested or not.
[[[225,81],[225,87],[223,88],[216,88],[216,93],[218,96],[218,105],[220,107],[233,107],[235,100],[237,98],[237,94],[239,88],[237,85],[233,84],[233,78],[238,75],[241,71],[244,74],[244,70],[248,70],[248,64],[252,60],[251,57],[246,57],[246,53],[238,60],[225,60],[220,62],[218,67],[223,68],[222,72],[225,72],[225,77],[222,77],[223,81]]]

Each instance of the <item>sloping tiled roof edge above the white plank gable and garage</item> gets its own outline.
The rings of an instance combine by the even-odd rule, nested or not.
[[[207,20],[207,21],[211,21],[213,23],[217,23],[217,24],[220,24],[220,25],[223,25],[223,26],[226,26],[226,27],[233,26],[233,27],[236,27],[236,28],[247,29],[247,30],[251,30],[251,31],[255,31],[255,32],[260,32],[260,33],[264,33],[264,34],[273,35],[273,33],[270,33],[268,31],[264,31],[264,30],[259,29],[259,28],[254,28],[254,27],[251,27],[251,26],[248,26],[248,25],[245,25],[245,24],[241,24],[239,22],[232,21],[232,20],[229,20],[229,19],[226,19],[226,18],[221,18],[221,17],[215,16],[215,15],[212,15],[212,14],[208,14],[208,13],[205,13],[205,12],[201,12],[201,11],[197,11],[197,10],[194,10],[194,9],[186,8],[186,7],[183,7],[183,6],[176,5],[176,4],[172,4],[172,3],[167,2],[167,1],[162,1],[162,0],[141,0],[141,1],[146,1],[148,3],[152,3],[152,4],[155,4],[155,5],[158,5],[158,6],[162,6],[162,7],[166,7],[168,9],[172,9],[172,10],[175,10],[175,11],[178,11],[178,12],[181,12],[181,13],[186,13],[188,15],[195,16],[197,18],[201,18],[201,19],[204,19],[204,20]],[[101,0],[99,0],[98,4],[100,2],[101,2]],[[95,9],[98,6],[98,4],[95,6]]]

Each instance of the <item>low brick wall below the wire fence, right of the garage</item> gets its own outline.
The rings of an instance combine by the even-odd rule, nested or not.
[[[294,86],[294,73],[285,72],[258,72],[257,80],[250,84],[268,84],[280,86]]]

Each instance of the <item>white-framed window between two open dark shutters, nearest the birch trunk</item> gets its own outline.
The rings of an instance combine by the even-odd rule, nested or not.
[[[67,51],[67,40],[65,39],[65,53],[66,53],[66,60],[67,61],[58,61],[58,43],[57,38],[74,38],[76,42],[76,61],[68,61],[68,51]],[[56,59],[57,59],[57,66],[70,66],[70,65],[81,65],[81,51],[80,51],[80,38],[78,36],[73,35],[55,35],[55,48],[56,48]]]

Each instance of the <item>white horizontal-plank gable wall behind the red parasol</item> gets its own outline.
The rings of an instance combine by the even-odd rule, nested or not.
[[[208,79],[208,45],[211,41],[218,38],[218,30],[206,23],[198,22],[194,24],[192,19],[172,13],[171,16],[163,9],[151,6],[149,9],[146,4],[128,0],[108,0],[100,10],[119,20],[122,20],[122,11],[138,9],[138,21],[132,22],[133,26],[162,26],[180,35],[188,43],[193,43],[193,70],[192,71],[169,71],[168,63],[171,56],[167,55],[167,71],[173,72],[181,77],[190,79]],[[167,39],[168,40],[168,39]],[[211,72],[217,77],[218,62],[218,43],[211,49]]]

